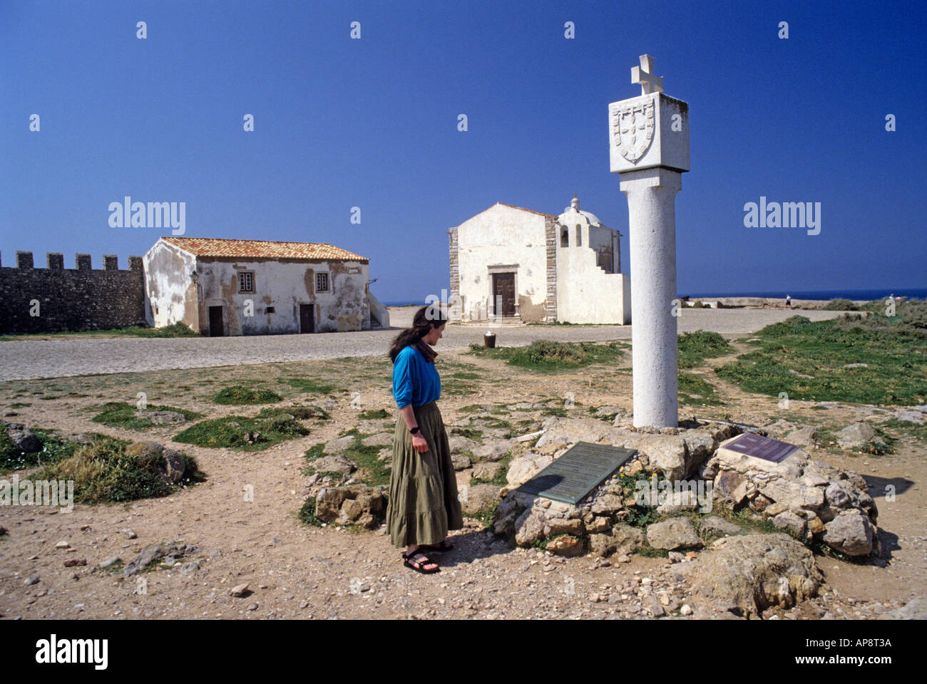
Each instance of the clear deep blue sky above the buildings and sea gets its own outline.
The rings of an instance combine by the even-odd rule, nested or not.
[[[125,268],[166,232],[111,228],[123,196],[184,201],[187,236],[357,252],[381,300],[448,287],[445,231],[496,201],[558,214],[576,192],[627,235],[607,108],[640,94],[629,70],[648,53],[690,107],[679,294],[927,286],[925,14],[920,2],[0,0],[3,265],[27,250],[42,267],[54,251],[67,268],[77,252]],[[820,202],[820,234],[745,228],[760,196]],[[622,263],[633,278],[627,237]]]

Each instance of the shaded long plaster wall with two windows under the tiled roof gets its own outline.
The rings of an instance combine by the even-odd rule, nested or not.
[[[367,263],[200,258],[197,269],[202,285],[200,320],[206,333],[210,306],[222,306],[226,335],[298,333],[300,304],[315,305],[315,332],[370,329]],[[238,273],[243,271],[254,274],[253,292],[238,291]],[[328,291],[316,292],[315,276],[321,272],[328,273]]]

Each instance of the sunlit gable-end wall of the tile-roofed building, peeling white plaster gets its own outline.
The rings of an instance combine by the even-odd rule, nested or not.
[[[197,330],[196,310],[187,311],[190,272],[196,258],[180,247],[159,240],[143,257],[145,265],[146,320],[160,328],[184,322]]]

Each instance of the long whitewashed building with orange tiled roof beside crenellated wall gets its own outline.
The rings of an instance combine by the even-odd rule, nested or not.
[[[143,258],[146,318],[205,336],[388,327],[369,260],[324,243],[161,237]]]

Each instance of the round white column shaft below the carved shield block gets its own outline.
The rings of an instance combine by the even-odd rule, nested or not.
[[[676,193],[679,171],[621,174],[628,196],[634,424],[679,424],[676,298]]]

